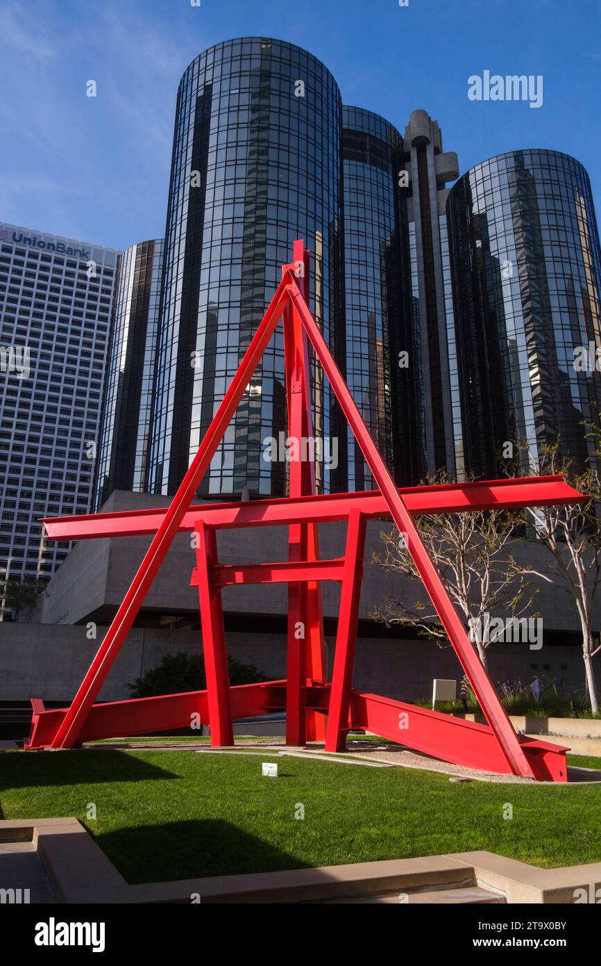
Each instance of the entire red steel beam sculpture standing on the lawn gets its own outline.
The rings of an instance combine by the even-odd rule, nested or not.
[[[27,748],[72,748],[82,741],[145,734],[190,725],[193,716],[210,725],[214,746],[233,744],[232,721],[286,709],[288,745],[325,739],[329,752],[344,748],[350,727],[366,728],[403,746],[460,765],[542,781],[566,781],[565,748],[516,735],[495,689],[455,611],[441,577],[423,546],[413,517],[417,513],[460,512],[500,507],[575,503],[583,497],[560,476],[493,480],[398,490],[309,310],[309,252],[294,242],[293,262],[240,363],[168,510],[95,514],[44,520],[58,540],[153,533],[150,548],[123,604],[100,644],[70,707],[46,711],[33,699]],[[284,317],[288,437],[313,436],[309,341],[361,446],[378,490],[331,496],[315,494],[314,466],[290,463],[289,497],[192,505],[206,469],[221,442],[269,339]],[[423,584],[449,635],[486,716],[477,725],[387,697],[352,688],[366,523],[389,515],[404,534]],[[319,557],[320,522],[346,521],[344,556]],[[226,527],[282,526],[289,530],[285,563],[223,565],[216,531]],[[150,583],[178,531],[197,533],[197,566],[206,690],[95,704],[96,696],[123,645]],[[321,581],[341,582],[341,605],[331,682],[321,613]],[[221,588],[230,584],[288,584],[287,679],[230,687]]]

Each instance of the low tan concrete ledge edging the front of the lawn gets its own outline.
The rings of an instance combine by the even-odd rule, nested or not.
[[[537,868],[485,851],[130,886],[76,818],[0,821],[0,842],[25,841],[34,843],[60,903],[192,903],[193,896],[208,904],[394,901],[390,896],[400,893],[410,902],[412,895],[416,902],[460,902],[484,889],[492,898],[483,901],[571,904],[577,889],[594,895],[601,888],[601,863]]]

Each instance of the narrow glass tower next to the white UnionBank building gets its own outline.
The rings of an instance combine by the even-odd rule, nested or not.
[[[96,510],[113,490],[146,490],[162,268],[162,239],[140,241],[117,259],[96,462]]]

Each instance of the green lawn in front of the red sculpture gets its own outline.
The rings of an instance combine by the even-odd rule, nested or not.
[[[280,777],[262,778],[261,760]],[[546,867],[599,862],[600,806],[601,784],[453,783],[267,752],[0,753],[1,817],[75,815],[130,883],[474,849]]]

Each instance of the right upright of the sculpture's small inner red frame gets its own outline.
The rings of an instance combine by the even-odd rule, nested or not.
[[[346,531],[344,575],[341,608],[336,636],[336,652],[330,689],[326,752],[341,752],[346,745],[348,709],[353,683],[359,598],[363,578],[363,555],[366,546],[366,521],[359,510],[351,510]]]

